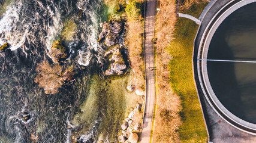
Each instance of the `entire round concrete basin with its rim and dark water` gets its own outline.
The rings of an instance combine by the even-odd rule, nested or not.
[[[213,109],[256,133],[256,0],[231,1],[212,18],[198,50],[198,77]],[[217,61],[207,61],[217,60]],[[218,61],[228,60],[228,61]]]

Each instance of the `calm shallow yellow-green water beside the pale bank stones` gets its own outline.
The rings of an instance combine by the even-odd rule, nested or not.
[[[118,132],[123,120],[138,102],[142,102],[138,95],[126,89],[131,84],[131,79],[129,72],[104,79],[98,74],[91,77],[88,97],[71,121],[73,125],[83,127],[74,130],[77,132],[74,133],[76,138],[96,129],[98,141],[118,142]]]

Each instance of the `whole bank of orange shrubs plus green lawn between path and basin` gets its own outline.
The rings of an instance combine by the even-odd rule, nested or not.
[[[179,12],[199,17],[208,1],[180,1]],[[176,1],[159,0],[156,78],[158,84],[153,142],[207,142],[192,74],[198,25],[176,17]]]

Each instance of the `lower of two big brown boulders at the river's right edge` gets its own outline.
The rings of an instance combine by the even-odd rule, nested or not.
[[[105,71],[106,75],[112,75],[112,74],[120,75],[124,73],[123,70],[127,69],[124,58],[119,49],[116,49],[116,51],[113,52],[113,55],[112,55],[112,58],[110,58],[110,61],[115,61],[115,63],[110,64],[110,69]]]

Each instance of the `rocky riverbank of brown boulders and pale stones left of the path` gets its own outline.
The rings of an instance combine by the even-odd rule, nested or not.
[[[122,29],[124,29],[125,24],[122,23],[122,21],[120,20],[113,19],[110,20],[108,23],[106,21],[104,23],[101,23],[100,26],[103,27],[103,30],[99,35],[98,41],[104,42],[109,47],[109,50],[106,51],[104,57],[106,57],[106,59],[109,58],[110,66],[109,69],[104,72],[104,74],[107,76],[113,76],[121,75],[124,74],[125,71],[129,71],[131,72],[133,77],[137,77],[134,76],[135,72],[133,69],[129,70],[129,67],[131,67],[130,61],[124,58],[125,56],[129,57],[129,50],[127,49],[127,46],[124,45],[125,42],[119,42],[119,39],[123,38],[121,35],[122,33],[124,33],[124,30]],[[137,82],[136,78],[132,78],[132,81],[130,81],[130,83],[131,84],[128,84],[127,86],[127,91],[132,93],[135,97],[139,97],[140,102],[137,102],[137,105],[132,108],[127,118],[123,120],[122,125],[119,126],[119,129],[121,130],[119,130],[118,133],[118,141],[135,143],[138,142],[140,133],[143,128],[142,121],[144,109],[142,108],[141,111],[141,107],[144,107],[144,105],[142,104],[144,102],[144,91],[141,89],[141,87],[137,87],[140,86],[140,84],[138,84],[139,82]]]

